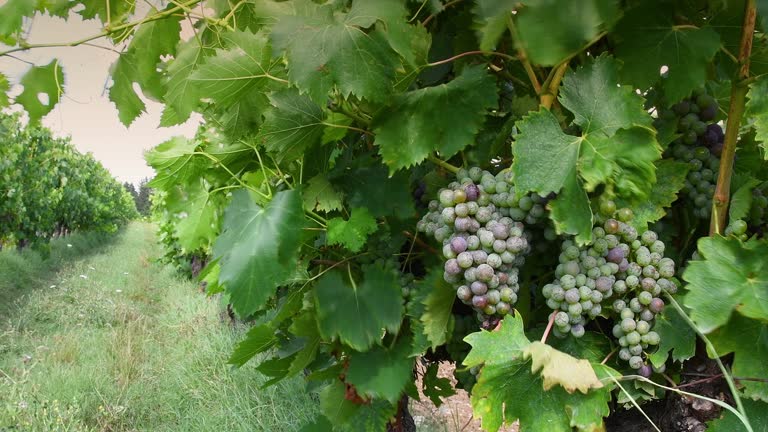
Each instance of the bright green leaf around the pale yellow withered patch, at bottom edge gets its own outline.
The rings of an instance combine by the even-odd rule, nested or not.
[[[482,418],[484,430],[497,431],[505,421],[512,423],[516,419],[520,420],[522,430],[589,430],[600,427],[603,417],[609,414],[610,386],[592,389],[587,394],[568,393],[561,386],[544,390],[544,379],[532,373],[533,363],[524,359],[532,344],[525,337],[520,314],[507,317],[496,331],[482,330],[464,340],[472,345],[464,364],[483,365],[472,389],[471,402],[475,414]],[[593,370],[603,378],[610,368],[596,365]]]

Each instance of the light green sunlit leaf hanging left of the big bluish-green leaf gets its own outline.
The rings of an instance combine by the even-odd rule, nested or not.
[[[171,189],[166,196],[166,208],[179,217],[174,231],[186,252],[208,245],[215,235],[216,207],[202,179],[184,188]]]

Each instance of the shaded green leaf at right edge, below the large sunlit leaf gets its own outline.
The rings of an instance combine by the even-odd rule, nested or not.
[[[728,324],[709,335],[709,339],[718,355],[733,353],[731,369],[735,377],[758,379],[740,381],[744,386],[744,395],[768,402],[768,368],[765,365],[768,358],[768,324],[734,315]]]

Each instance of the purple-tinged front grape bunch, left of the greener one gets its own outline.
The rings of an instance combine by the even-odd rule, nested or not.
[[[519,267],[530,252],[526,223],[545,214],[545,199],[518,197],[509,170],[493,175],[473,167],[430,201],[417,229],[442,246],[444,278],[483,321],[504,316],[517,302]]]

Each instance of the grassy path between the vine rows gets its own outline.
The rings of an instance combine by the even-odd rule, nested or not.
[[[294,431],[314,417],[300,380],[262,390],[255,365],[226,364],[247,329],[158,253],[132,224],[0,322],[0,431]]]

